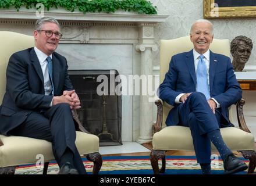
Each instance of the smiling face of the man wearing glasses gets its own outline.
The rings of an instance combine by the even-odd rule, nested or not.
[[[59,26],[55,23],[44,23],[41,30],[51,30],[53,33],[60,32]],[[45,31],[34,31],[35,47],[40,49],[46,55],[51,55],[58,47],[59,40],[55,38],[55,34],[51,37],[45,35]]]

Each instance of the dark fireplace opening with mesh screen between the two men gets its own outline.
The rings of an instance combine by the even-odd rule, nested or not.
[[[99,146],[122,145],[122,96],[115,91],[120,82],[111,81],[118,75],[117,70],[69,70],[81,102],[79,120],[87,131],[99,137]],[[97,82],[98,76],[108,81],[106,90],[102,86],[98,89],[105,91],[102,95],[97,93],[97,87],[102,85],[102,81]]]

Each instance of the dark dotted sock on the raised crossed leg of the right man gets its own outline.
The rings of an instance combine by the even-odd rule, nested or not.
[[[207,134],[208,138],[211,140],[212,144],[218,149],[221,158],[224,160],[225,155],[232,153],[232,151],[227,147],[222,139],[220,130],[213,130]]]

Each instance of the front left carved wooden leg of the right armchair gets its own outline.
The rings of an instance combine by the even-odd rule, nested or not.
[[[162,167],[161,170],[159,171],[159,166],[158,166],[158,160],[162,159]],[[158,151],[158,150],[152,150],[150,153],[150,162],[152,169],[154,171],[154,174],[159,174],[159,173],[165,173],[165,151]]]

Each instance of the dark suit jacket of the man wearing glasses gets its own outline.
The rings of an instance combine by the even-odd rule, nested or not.
[[[55,95],[73,90],[67,72],[67,60],[52,53]],[[29,113],[48,109],[53,96],[44,95],[44,77],[34,48],[10,56],[6,69],[6,92],[0,106],[0,133],[8,134],[26,120]]]

